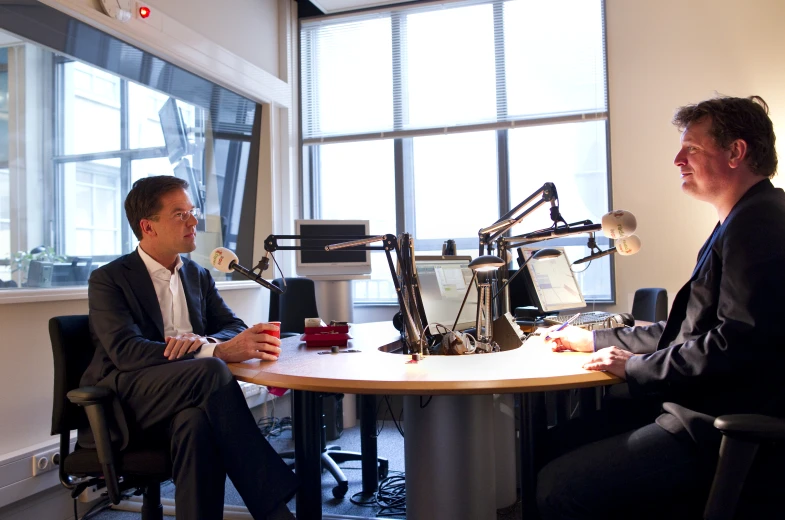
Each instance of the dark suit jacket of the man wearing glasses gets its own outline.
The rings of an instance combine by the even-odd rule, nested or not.
[[[224,303],[206,269],[183,258],[179,273],[194,333],[228,340],[247,328]],[[147,267],[136,251],[93,271],[87,294],[95,354],[82,375],[82,386],[106,386],[117,393],[120,372],[194,357],[193,353],[175,361],[164,357],[161,307]],[[128,428],[120,404],[115,403],[114,409],[117,424],[112,428],[113,440],[124,447]],[[82,432],[79,442],[91,444]]]

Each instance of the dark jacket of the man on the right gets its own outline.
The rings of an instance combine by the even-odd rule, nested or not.
[[[616,345],[633,396],[670,401],[657,423],[713,445],[713,418],[782,415],[785,395],[785,193],[763,180],[733,207],[698,254],[667,322],[595,332]]]

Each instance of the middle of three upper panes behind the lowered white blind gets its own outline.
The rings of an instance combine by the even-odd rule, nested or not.
[[[496,119],[491,4],[410,14],[406,31],[404,128]]]

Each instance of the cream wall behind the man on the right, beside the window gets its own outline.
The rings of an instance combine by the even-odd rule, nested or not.
[[[783,164],[785,2],[607,0],[606,22],[613,207],[635,213],[643,242],[616,257],[616,308],[626,311],[638,287],[665,287],[672,303],[717,222],[681,192],[675,108],[715,91],[762,96]]]

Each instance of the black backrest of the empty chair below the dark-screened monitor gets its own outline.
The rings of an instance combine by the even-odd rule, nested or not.
[[[318,318],[316,289],[309,278],[286,278],[283,294],[270,293],[270,321],[281,322],[281,332],[304,332],[305,318]],[[284,279],[276,278],[273,284],[284,288]]]

